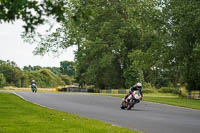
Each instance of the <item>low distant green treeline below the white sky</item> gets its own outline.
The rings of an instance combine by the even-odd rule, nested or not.
[[[29,87],[32,80],[41,88],[72,84],[74,63],[63,61],[60,64],[61,67],[24,66],[21,70],[13,61],[0,60],[0,87]]]

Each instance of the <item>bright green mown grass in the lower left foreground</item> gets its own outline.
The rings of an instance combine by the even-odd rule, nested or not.
[[[138,133],[0,93],[0,133]]]

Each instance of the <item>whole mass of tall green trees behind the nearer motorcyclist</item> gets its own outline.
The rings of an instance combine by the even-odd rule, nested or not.
[[[24,38],[37,42],[36,54],[76,45],[75,63],[68,70],[72,68],[74,72],[75,66],[75,78],[81,86],[128,88],[139,81],[157,88],[200,89],[199,1],[57,0],[50,3],[46,7],[51,7],[52,12],[47,12],[58,18],[62,16],[60,27],[53,33],[29,33]],[[55,13],[56,7],[61,10]]]

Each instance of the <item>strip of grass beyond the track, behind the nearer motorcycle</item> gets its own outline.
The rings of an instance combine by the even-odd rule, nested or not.
[[[121,97],[121,98],[125,96],[124,94],[123,95],[122,94],[105,94],[105,95]],[[168,105],[200,110],[200,100],[179,97],[178,95],[175,95],[175,94],[148,93],[148,94],[144,94],[143,101],[168,104]]]

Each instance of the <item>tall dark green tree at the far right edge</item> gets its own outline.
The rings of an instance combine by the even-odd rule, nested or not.
[[[197,0],[170,0],[166,3],[173,62],[181,71],[188,90],[199,89],[200,3]]]

